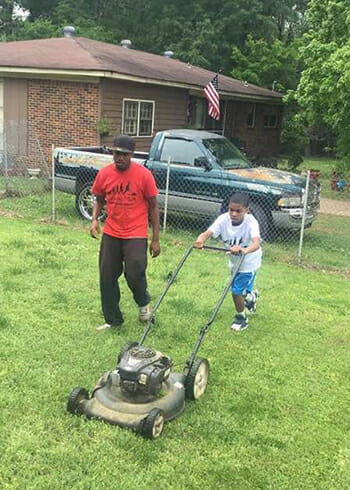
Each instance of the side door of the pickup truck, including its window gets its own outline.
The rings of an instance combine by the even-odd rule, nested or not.
[[[160,143],[158,158],[151,162],[151,171],[159,188],[160,207],[164,206],[168,161],[170,213],[215,217],[220,212],[218,186],[222,172],[195,166],[195,159],[207,156],[191,139],[165,137]]]

